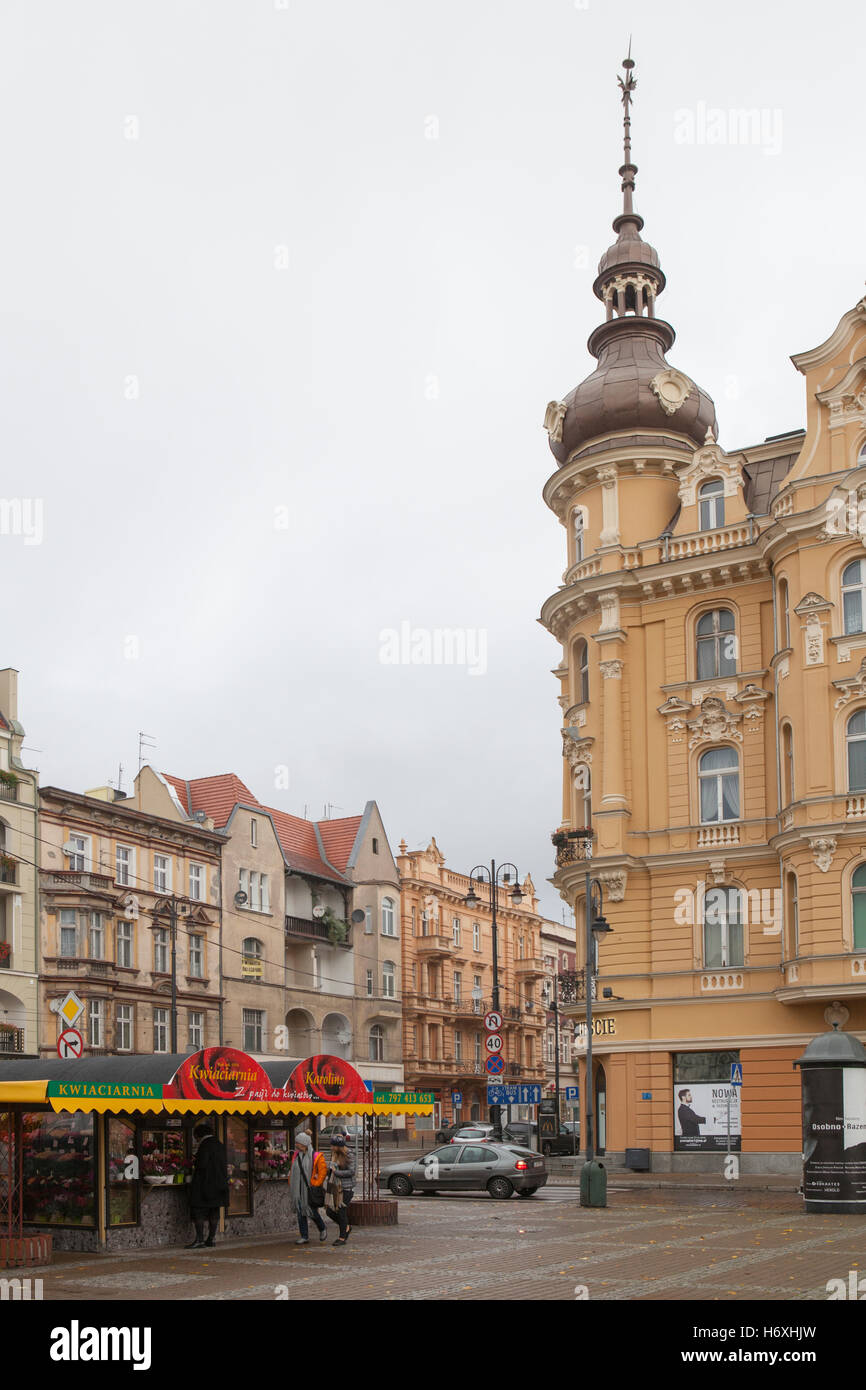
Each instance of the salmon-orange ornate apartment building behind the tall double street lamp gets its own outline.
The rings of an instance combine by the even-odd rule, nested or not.
[[[406,1086],[435,1094],[435,1127],[452,1119],[487,1119],[484,1015],[493,1001],[489,887],[448,869],[435,840],[418,851],[410,851],[403,841],[398,867]],[[470,888],[480,899],[471,909],[466,905]],[[512,903],[510,890],[500,891],[496,913],[506,1063],[499,1080],[544,1083],[541,930],[545,919],[538,912],[531,877],[527,876],[521,890],[520,905]]]

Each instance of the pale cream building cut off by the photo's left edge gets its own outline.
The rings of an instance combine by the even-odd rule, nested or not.
[[[39,1042],[39,778],[22,759],[18,671],[0,671],[0,1055]]]

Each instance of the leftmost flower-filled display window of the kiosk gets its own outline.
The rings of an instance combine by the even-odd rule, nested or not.
[[[93,1115],[25,1113],[22,1145],[25,1222],[96,1226]]]

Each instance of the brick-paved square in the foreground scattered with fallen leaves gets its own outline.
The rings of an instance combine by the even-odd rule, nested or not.
[[[46,1300],[826,1300],[866,1273],[866,1219],[806,1216],[790,1193],[609,1191],[581,1209],[557,1186],[527,1201],[406,1198],[399,1225],[349,1244],[296,1232],[214,1251],[74,1255],[31,1269]],[[316,1234],[316,1232],[313,1232]],[[339,1279],[335,1273],[339,1272]]]

